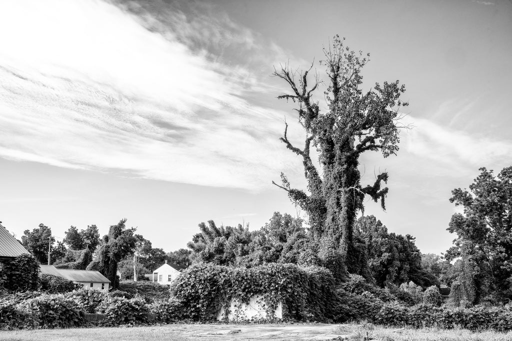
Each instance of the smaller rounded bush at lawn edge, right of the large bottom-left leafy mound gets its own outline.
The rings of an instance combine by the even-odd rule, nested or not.
[[[140,299],[125,299],[124,297],[109,297],[103,301],[106,314],[106,326],[135,325],[148,322],[150,310]]]

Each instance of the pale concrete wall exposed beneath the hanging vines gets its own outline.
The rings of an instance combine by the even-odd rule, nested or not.
[[[219,314],[217,315],[218,321],[227,317],[228,321],[245,321],[247,319],[262,319],[267,317],[267,312],[265,310],[266,304],[263,302],[263,299],[259,295],[252,296],[249,299],[249,304],[240,303],[238,300],[231,300],[229,310],[227,316],[224,308],[221,308]],[[283,318],[283,304],[282,302],[278,303],[278,307],[274,310],[274,316],[276,318]],[[268,316],[270,317],[270,316]]]

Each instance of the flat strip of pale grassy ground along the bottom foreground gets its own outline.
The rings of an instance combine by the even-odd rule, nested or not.
[[[1,331],[1,341],[78,340],[362,340],[511,341],[512,333],[468,330],[393,329],[367,325],[165,325],[132,328],[77,328]]]

